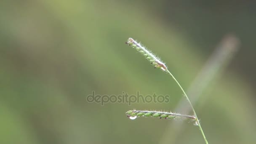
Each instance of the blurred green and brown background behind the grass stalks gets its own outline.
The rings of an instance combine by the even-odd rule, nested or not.
[[[174,120],[125,116],[131,109],[175,110],[186,100],[125,41],[147,45],[187,90],[227,34],[240,39],[240,49],[193,104],[210,144],[255,143],[253,3],[2,0],[0,144],[203,144],[192,123],[174,129]],[[101,106],[86,101],[92,91],[171,101]]]

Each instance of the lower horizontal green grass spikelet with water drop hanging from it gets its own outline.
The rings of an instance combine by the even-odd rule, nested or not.
[[[174,120],[193,120],[195,121],[196,117],[192,115],[181,115],[173,112],[157,112],[157,111],[140,111],[140,110],[129,110],[126,112],[126,115],[134,120],[137,117],[158,117],[160,119],[174,119]]]

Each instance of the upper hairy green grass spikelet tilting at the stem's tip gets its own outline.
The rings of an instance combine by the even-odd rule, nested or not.
[[[155,54],[153,54],[151,51],[149,51],[147,48],[145,48],[140,43],[133,40],[133,38],[128,38],[128,41],[126,44],[130,45],[131,47],[135,48],[139,53],[141,53],[145,58],[155,66],[155,68],[160,68],[163,71],[167,69],[165,64],[157,57]]]

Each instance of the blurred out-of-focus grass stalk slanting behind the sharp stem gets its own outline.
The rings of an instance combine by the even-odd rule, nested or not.
[[[236,55],[239,50],[240,40],[232,34],[227,34],[223,37],[219,45],[216,46],[211,56],[207,59],[200,72],[196,75],[195,79],[192,80],[189,88],[186,90],[187,95],[189,96],[190,102],[195,105],[195,102],[200,99],[205,88],[209,84],[214,82],[214,77],[218,77],[221,72],[227,67],[232,58]],[[207,97],[207,96],[204,96]],[[192,111],[187,100],[181,100],[174,110],[175,112],[181,112],[187,114]],[[169,127],[163,135],[162,141],[159,141],[159,144],[169,144],[175,141],[176,139],[168,139],[169,134],[179,136],[182,133],[183,122],[179,123],[170,123]],[[175,131],[175,132],[174,132]]]

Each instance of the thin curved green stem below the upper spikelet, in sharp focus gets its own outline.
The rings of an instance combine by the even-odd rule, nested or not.
[[[176,78],[171,74],[171,72],[168,70],[168,69],[165,69],[172,77],[173,77],[173,79],[176,81],[176,83],[179,85],[179,87],[181,88],[181,91],[184,93],[184,95],[185,95],[185,97],[186,97],[186,99],[187,99],[187,101],[189,102],[189,104],[190,104],[190,106],[191,106],[191,108],[192,108],[192,110],[193,110],[193,112],[194,112],[194,115],[195,115],[195,117],[196,117],[196,123],[197,123],[197,125],[199,126],[199,129],[200,129],[200,131],[201,131],[201,133],[202,133],[202,136],[203,136],[203,139],[205,140],[205,144],[208,144],[208,141],[207,141],[207,139],[206,139],[206,137],[205,137],[205,134],[203,133],[203,129],[202,129],[202,127],[201,127],[201,125],[200,125],[200,122],[199,122],[199,120],[198,120],[198,118],[197,118],[197,114],[196,114],[196,112],[195,112],[195,109],[194,109],[194,107],[193,107],[193,105],[191,104],[191,102],[189,101],[189,98],[187,97],[187,94],[185,93],[185,91],[183,90],[183,88],[181,87],[181,85],[179,84],[179,82],[176,80]]]

